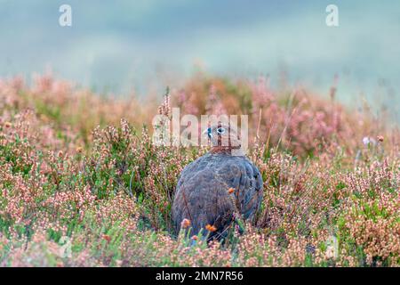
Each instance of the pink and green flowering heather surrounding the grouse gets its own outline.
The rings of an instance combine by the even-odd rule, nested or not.
[[[0,80],[0,265],[399,266],[398,130],[335,90],[288,90],[197,74],[139,103],[49,75]],[[204,242],[212,225],[173,232],[180,172],[207,148],[153,143],[156,102],[165,115],[250,115],[264,200],[227,240]]]

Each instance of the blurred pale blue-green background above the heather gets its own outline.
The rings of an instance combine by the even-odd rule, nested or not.
[[[72,27],[59,25],[61,4]],[[325,24],[328,4],[339,27]],[[0,77],[52,72],[146,98],[197,69],[272,85],[284,76],[326,95],[336,75],[340,101],[400,121],[399,1],[0,0],[0,35]]]

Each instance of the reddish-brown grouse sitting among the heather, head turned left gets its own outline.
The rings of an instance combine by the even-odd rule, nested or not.
[[[260,170],[241,151],[236,127],[218,122],[205,133],[211,151],[183,168],[172,202],[172,222],[176,232],[190,225],[195,237],[203,231],[207,240],[223,240],[236,216],[254,218],[263,182]]]

